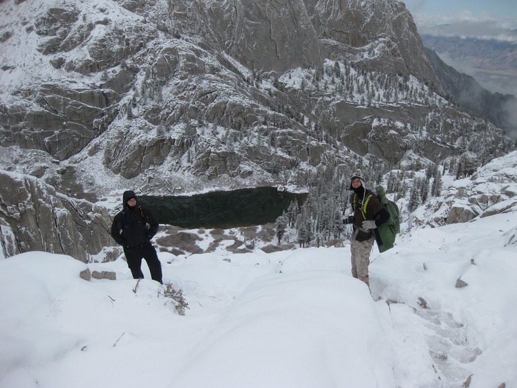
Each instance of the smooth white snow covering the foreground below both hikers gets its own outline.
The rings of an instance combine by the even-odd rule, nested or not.
[[[0,261],[0,387],[517,386],[516,214],[424,228],[373,252],[160,253],[163,286],[122,259]],[[79,278],[86,269],[117,280]],[[464,284],[456,288],[458,279]],[[469,377],[470,376],[470,377]],[[505,385],[502,385],[505,383]]]

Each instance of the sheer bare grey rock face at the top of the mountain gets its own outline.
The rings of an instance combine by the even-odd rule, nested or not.
[[[399,1],[182,0],[169,3],[169,15],[165,23],[172,20],[178,33],[210,42],[252,71],[284,73],[347,60],[437,83]]]

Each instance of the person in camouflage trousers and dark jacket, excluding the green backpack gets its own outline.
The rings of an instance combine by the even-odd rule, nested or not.
[[[390,220],[390,214],[375,193],[366,189],[360,171],[355,172],[350,179],[350,190],[353,190],[353,193],[348,197],[348,202],[352,206],[353,214],[345,217],[343,223],[353,224],[353,233],[350,237],[352,276],[364,281],[370,288],[370,253],[375,239],[379,244],[379,235],[375,232]]]

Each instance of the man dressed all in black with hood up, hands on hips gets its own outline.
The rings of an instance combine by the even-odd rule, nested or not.
[[[113,219],[111,236],[124,248],[133,279],[143,279],[141,266],[142,259],[145,259],[151,278],[162,283],[162,264],[151,244],[151,239],[158,232],[158,221],[151,210],[136,205],[135,192],[128,190],[122,198],[123,209]]]

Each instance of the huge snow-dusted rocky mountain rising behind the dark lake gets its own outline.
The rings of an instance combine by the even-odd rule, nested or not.
[[[514,147],[437,93],[398,1],[3,1],[0,15],[3,166],[63,191],[290,183]]]

